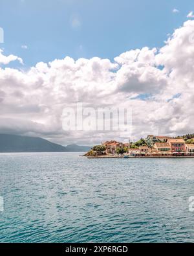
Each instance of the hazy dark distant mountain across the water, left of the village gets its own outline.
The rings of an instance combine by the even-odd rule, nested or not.
[[[85,152],[88,149],[88,146],[61,146],[39,137],[0,134],[0,152]]]

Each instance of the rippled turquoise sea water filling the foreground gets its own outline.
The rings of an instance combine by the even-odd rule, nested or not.
[[[0,242],[194,242],[194,159],[0,154]]]

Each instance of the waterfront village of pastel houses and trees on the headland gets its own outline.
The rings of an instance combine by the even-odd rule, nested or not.
[[[194,139],[148,135],[136,143],[105,141],[94,146],[87,157],[194,157]]]

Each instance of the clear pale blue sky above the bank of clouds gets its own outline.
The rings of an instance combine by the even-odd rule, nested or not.
[[[5,54],[25,65],[55,58],[113,60],[130,49],[161,47],[194,10],[191,0],[1,0]],[[179,12],[173,12],[176,8]],[[21,45],[27,45],[23,49]]]

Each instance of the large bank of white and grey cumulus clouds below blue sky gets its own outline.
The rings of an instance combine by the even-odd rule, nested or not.
[[[186,21],[160,49],[134,49],[114,58],[39,62],[28,71],[0,69],[0,132],[38,135],[61,143],[92,145],[120,132],[65,132],[63,108],[128,108],[132,137],[193,132],[194,21]],[[17,56],[0,54],[8,64]],[[146,96],[148,95],[148,96]]]

